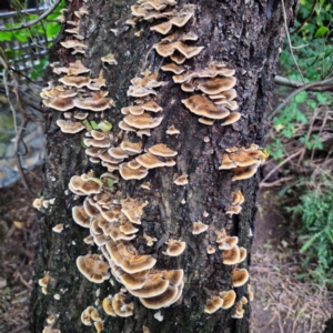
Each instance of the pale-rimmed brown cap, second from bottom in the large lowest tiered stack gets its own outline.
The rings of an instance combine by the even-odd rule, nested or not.
[[[149,299],[158,296],[167,291],[169,280],[163,280],[159,273],[149,274],[141,289],[130,290],[129,292],[138,297]]]

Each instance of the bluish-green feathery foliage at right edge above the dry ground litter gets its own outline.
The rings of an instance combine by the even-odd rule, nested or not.
[[[302,229],[299,232],[306,254],[303,266],[315,282],[333,284],[333,184],[322,180],[315,191],[309,190],[300,198],[300,203],[290,209],[301,215]],[[315,262],[312,270],[310,262]]]

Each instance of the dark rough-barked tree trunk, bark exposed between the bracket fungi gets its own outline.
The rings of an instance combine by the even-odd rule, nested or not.
[[[129,3],[130,2],[130,3]],[[77,269],[75,259],[89,251],[100,253],[97,246],[87,245],[83,238],[85,229],[72,220],[71,208],[82,204],[82,196],[75,199],[72,193],[65,194],[69,181],[74,174],[82,174],[93,169],[95,174],[105,169],[89,162],[81,145],[83,134],[64,134],[56,124],[62,113],[49,109],[47,118],[47,157],[43,178],[44,199],[56,198],[53,205],[41,209],[40,235],[36,258],[36,285],[31,302],[31,332],[42,332],[47,326],[46,319],[57,315],[53,329],[69,332],[95,332],[93,326],[84,326],[80,316],[82,311],[93,305],[99,309],[104,320],[104,332],[143,332],[143,325],[150,332],[249,332],[250,304],[244,305],[243,319],[233,319],[234,307],[219,310],[213,314],[204,313],[206,301],[220,291],[231,290],[231,272],[233,266],[222,263],[221,251],[206,253],[209,244],[218,249],[216,232],[225,228],[228,234],[236,235],[239,244],[248,250],[248,258],[238,268],[248,268],[251,261],[251,234],[254,230],[255,200],[259,175],[232,182],[232,170],[219,170],[225,149],[232,147],[250,147],[263,144],[265,135],[264,112],[273,88],[276,62],[284,38],[284,21],[281,1],[213,1],[195,2],[195,14],[184,28],[176,31],[195,32],[198,41],[193,46],[204,49],[185,61],[189,69],[203,69],[212,61],[225,62],[228,68],[235,69],[238,83],[239,112],[241,119],[226,127],[215,121],[212,127],[198,122],[198,115],[191,113],[181,102],[195,92],[183,92],[180,84],[173,83],[172,74],[161,70],[170,63],[169,59],[159,56],[152,46],[164,36],[150,31],[157,22],[142,21],[134,28],[124,21],[131,18],[128,0],[88,1],[89,16],[81,19],[80,34],[85,37],[88,46],[84,56],[71,56],[70,51],[57,43],[51,62],[60,61],[62,65],[75,59],[91,69],[91,77],[98,77],[101,69],[107,79],[109,97],[115,101],[115,108],[105,112],[118,133],[118,122],[122,120],[120,109],[133,101],[127,97],[130,80],[140,72],[150,69],[159,72],[159,81],[168,84],[158,88],[158,104],[163,108],[163,120],[152,130],[151,137],[144,137],[144,147],[167,143],[178,151],[176,164],[173,168],[152,169],[149,175],[140,181],[120,181],[117,186],[123,198],[141,198],[149,202],[144,208],[142,224],[137,238],[132,241],[141,254],[152,254],[157,259],[159,270],[184,270],[184,289],[181,299],[169,307],[161,309],[163,321],[154,319],[157,311],[144,307],[138,297],[127,293],[127,303],[134,302],[134,315],[129,317],[108,316],[101,309],[102,301],[109,294],[115,294],[120,284],[108,281],[102,284],[89,282]],[[245,4],[245,2],[248,2]],[[296,0],[286,0],[286,19],[290,22],[295,16]],[[189,0],[179,0],[180,10]],[[69,2],[68,16],[74,20],[73,11],[82,6],[81,0]],[[72,28],[67,26],[67,29]],[[117,34],[110,32],[117,29]],[[140,36],[135,32],[141,31]],[[138,33],[137,33],[138,34]],[[68,38],[62,32],[61,40]],[[100,58],[113,53],[118,65],[102,67]],[[47,81],[58,80],[49,69]],[[89,119],[95,114],[90,112]],[[174,124],[179,135],[167,135],[165,130]],[[130,134],[134,138],[135,134]],[[209,140],[204,140],[208,137]],[[178,186],[173,181],[182,174],[189,175],[189,184]],[[151,190],[140,188],[143,182],[151,182]],[[225,214],[230,204],[231,192],[241,190],[245,202],[239,215]],[[208,212],[208,216],[203,213]],[[199,235],[192,234],[192,223],[203,221],[209,230]],[[52,232],[59,223],[64,224],[62,233]],[[143,232],[155,236],[159,241],[148,248]],[[167,256],[163,252],[169,239],[186,242],[186,249],[180,256]],[[48,294],[41,292],[38,280],[49,272],[51,279]],[[251,281],[251,276],[250,276]],[[100,290],[99,295],[97,291]],[[238,300],[248,297],[246,284],[234,289]],[[60,299],[56,300],[54,294]]]

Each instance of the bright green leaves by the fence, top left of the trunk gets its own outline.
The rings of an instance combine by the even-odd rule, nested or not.
[[[14,1],[13,3],[18,10],[22,9],[20,2]],[[7,42],[18,42],[20,48],[17,49],[6,49],[7,60],[14,64],[18,61],[24,61],[24,57],[30,53],[33,54],[36,49],[46,49],[50,48],[51,41],[57,37],[60,32],[61,26],[59,22],[54,21],[57,17],[59,17],[60,10],[64,7],[64,0],[54,9],[52,13],[50,13],[44,20],[24,29],[20,29],[17,31],[10,32],[1,32],[0,31],[0,41]],[[17,12],[16,23],[7,23],[4,28],[12,28],[20,26],[22,22],[30,22],[38,18],[37,14],[23,14],[20,11]],[[42,41],[43,40],[43,41]],[[41,42],[42,41],[42,42]],[[24,47],[24,48],[22,48]],[[32,57],[32,60],[37,59]],[[32,61],[26,60],[26,61]],[[48,57],[39,57],[39,63],[36,64],[32,62],[32,71],[30,73],[30,79],[34,80],[43,74],[44,68],[48,63]]]

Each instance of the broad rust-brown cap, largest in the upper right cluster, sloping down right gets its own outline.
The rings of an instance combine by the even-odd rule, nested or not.
[[[223,119],[230,114],[224,107],[215,105],[208,97],[195,94],[182,103],[194,114],[209,119]]]

